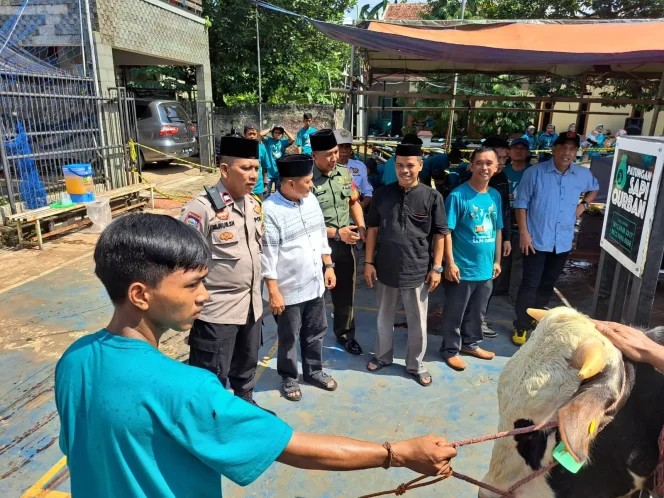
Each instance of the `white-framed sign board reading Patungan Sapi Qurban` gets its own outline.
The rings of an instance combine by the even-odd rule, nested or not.
[[[663,149],[663,142],[620,138],[613,158],[600,246],[639,278],[662,176]]]

